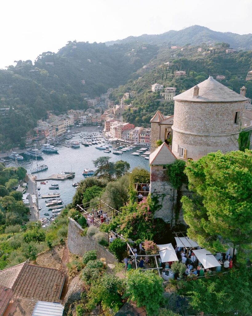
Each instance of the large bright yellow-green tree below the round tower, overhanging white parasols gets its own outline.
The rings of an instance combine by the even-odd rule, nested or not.
[[[232,244],[238,258],[251,255],[252,151],[210,153],[188,162],[185,173],[195,192],[181,199],[188,236],[213,252]]]

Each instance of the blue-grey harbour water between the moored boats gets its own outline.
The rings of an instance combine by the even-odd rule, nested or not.
[[[74,141],[83,141],[80,135],[84,134],[85,132],[81,132],[80,134],[75,134],[72,138]],[[90,134],[90,133],[89,133]],[[102,139],[103,140],[103,139]],[[100,145],[100,144],[98,144]],[[133,156],[131,155],[132,152],[138,150],[139,148],[134,148],[133,150],[123,152],[121,157],[119,155],[113,155],[112,152],[107,154],[104,153],[103,150],[96,149],[95,146],[98,145],[92,145],[89,147],[85,147],[84,145],[80,144],[80,148],[67,148],[62,145],[57,145],[56,147],[59,148],[58,154],[55,153],[44,153],[43,159],[38,159],[38,164],[45,163],[48,165],[48,170],[36,173],[34,175],[37,176],[38,179],[49,177],[50,175],[54,173],[61,173],[63,172],[75,172],[75,178],[64,180],[64,181],[48,181],[46,185],[40,184],[37,182],[37,185],[40,186],[40,193],[41,196],[53,193],[54,190],[49,190],[49,186],[51,184],[59,184],[59,189],[55,190],[58,193],[60,193],[60,197],[64,204],[68,204],[72,202],[72,197],[75,194],[75,187],[72,186],[74,182],[78,182],[82,179],[84,179],[82,172],[86,168],[93,169],[94,164],[93,160],[97,159],[100,156],[109,156],[111,157],[111,161],[117,161],[117,160],[124,160],[129,162],[130,169],[132,170],[135,167],[142,167],[147,170],[149,170],[149,161],[147,159],[144,159],[141,156]],[[113,144],[113,147],[118,147],[117,144]],[[21,154],[22,155],[22,154]],[[140,154],[141,155],[141,154]],[[18,161],[17,164],[19,166],[25,167],[27,169],[28,173],[31,173],[31,169],[36,166],[36,160],[35,158],[27,155],[23,155],[24,160]],[[15,166],[15,161],[12,159],[8,159],[6,162],[6,166]],[[46,199],[39,199],[38,204],[39,206],[42,206],[42,210],[40,210],[40,217],[43,217],[44,212],[48,212],[50,216],[52,215],[52,211],[48,210],[48,208],[45,206],[45,200]]]

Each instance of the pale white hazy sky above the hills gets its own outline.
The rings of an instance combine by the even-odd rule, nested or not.
[[[68,40],[99,43],[195,24],[252,33],[251,12],[251,0],[3,0],[0,68],[57,52]]]

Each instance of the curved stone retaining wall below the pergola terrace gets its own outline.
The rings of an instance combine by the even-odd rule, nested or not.
[[[69,219],[67,246],[70,252],[83,256],[89,250],[96,250],[97,258],[106,258],[107,263],[117,262],[114,255],[99,245],[92,237],[81,236],[83,228],[72,218]]]

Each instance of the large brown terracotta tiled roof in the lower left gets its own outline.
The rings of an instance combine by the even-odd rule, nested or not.
[[[0,271],[0,284],[12,284],[14,297],[48,302],[60,300],[65,281],[64,273],[27,263],[22,264],[18,271],[19,266]],[[11,276],[11,271],[15,272],[14,277]]]

